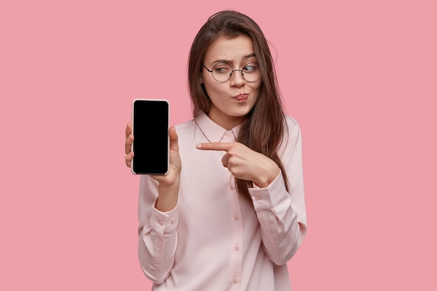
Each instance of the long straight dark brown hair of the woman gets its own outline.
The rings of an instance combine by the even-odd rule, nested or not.
[[[209,46],[218,36],[232,38],[240,35],[249,36],[253,42],[255,57],[262,72],[262,84],[258,100],[247,114],[237,140],[271,158],[281,169],[288,189],[286,171],[277,154],[283,135],[286,134],[281,94],[267,40],[258,24],[250,17],[232,10],[218,12],[209,17],[195,36],[188,59],[188,89],[193,103],[193,116],[197,116],[200,111],[208,113],[211,106],[205,87],[200,84],[202,64]],[[236,179],[236,182],[240,195],[252,202],[249,195],[252,181]]]

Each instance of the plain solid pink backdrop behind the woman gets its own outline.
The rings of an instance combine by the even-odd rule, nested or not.
[[[309,232],[293,290],[437,290],[436,2],[1,1],[0,290],[150,290],[134,98],[191,118],[186,61],[218,10],[274,45],[302,126]]]

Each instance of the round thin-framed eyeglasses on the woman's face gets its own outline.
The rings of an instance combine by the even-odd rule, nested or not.
[[[236,70],[232,69],[230,64],[226,63],[217,63],[212,67],[212,70],[209,70],[205,65],[203,65],[209,73],[212,73],[212,77],[217,82],[226,82],[232,77],[232,73],[234,73]],[[249,63],[246,64],[241,70],[243,79],[246,80],[246,82],[256,82],[261,77],[261,70],[256,63]]]

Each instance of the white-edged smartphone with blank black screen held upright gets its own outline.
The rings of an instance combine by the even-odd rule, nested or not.
[[[132,102],[133,174],[167,174],[169,167],[168,127],[170,105],[163,99]]]

